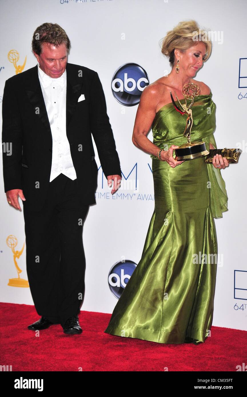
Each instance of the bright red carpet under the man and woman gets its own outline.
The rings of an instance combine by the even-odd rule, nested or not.
[[[246,331],[212,327],[205,343],[162,345],[104,333],[110,314],[81,311],[81,335],[60,325],[36,337],[27,326],[40,316],[34,306],[0,303],[1,365],[12,371],[236,371],[247,364]]]

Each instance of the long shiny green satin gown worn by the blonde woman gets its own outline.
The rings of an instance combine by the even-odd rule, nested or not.
[[[216,148],[212,92],[195,97],[191,109],[191,141]],[[163,106],[152,123],[154,144],[162,149],[186,143],[186,118],[172,103]],[[212,325],[218,250],[214,218],[228,210],[225,182],[205,157],[175,168],[151,158],[155,204],[143,253],[104,332],[199,344]]]

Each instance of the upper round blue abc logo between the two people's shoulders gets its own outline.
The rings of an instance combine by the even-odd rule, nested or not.
[[[112,94],[122,105],[134,106],[140,101],[145,87],[149,85],[147,72],[137,64],[124,64],[112,79]]]

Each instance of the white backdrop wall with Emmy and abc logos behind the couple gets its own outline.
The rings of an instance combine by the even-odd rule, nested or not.
[[[119,190],[118,195],[112,197],[105,177],[102,186],[101,168],[98,172],[97,204],[90,207],[83,229],[86,291],[81,310],[112,312],[117,299],[108,286],[110,268],[123,258],[139,262],[154,210],[151,158],[131,141],[137,106],[123,106],[116,101],[111,89],[112,77],[121,65],[128,62],[142,66],[150,83],[169,73],[169,62],[161,54],[159,40],[179,21],[195,19],[200,27],[218,31],[220,35],[220,40],[212,43],[212,55],[195,77],[210,87],[216,103],[214,137],[217,147],[233,148],[241,143],[243,150],[239,164],[221,171],[226,182],[229,210],[223,218],[215,220],[218,254],[223,254],[224,263],[217,268],[213,325],[247,330],[247,264],[244,254],[247,237],[247,78],[240,79],[239,87],[239,73],[240,77],[247,76],[247,59],[244,59],[247,58],[246,1],[87,0],[61,3],[63,0],[0,1],[0,101],[6,79],[15,74],[14,65],[8,60],[9,51],[19,53],[18,65],[22,65],[27,56],[24,70],[35,66],[37,62],[31,53],[33,32],[44,22],[58,23],[71,40],[68,62],[98,72],[125,177],[137,163],[128,179],[137,177],[139,192],[135,195],[133,190]],[[152,131],[148,137],[152,140]],[[100,167],[97,154],[95,159]],[[29,288],[8,285],[9,279],[17,277],[17,272],[6,238],[14,235],[18,241],[15,249],[20,250],[25,242],[25,233],[22,211],[15,210],[6,202],[2,164],[0,167],[0,301],[33,304]],[[17,263],[23,270],[21,278],[27,279],[25,248]],[[235,270],[238,272],[234,280]],[[237,295],[239,292],[242,299],[236,298],[240,296]]]

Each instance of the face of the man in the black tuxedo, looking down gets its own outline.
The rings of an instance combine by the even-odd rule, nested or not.
[[[53,79],[57,79],[64,73],[68,58],[65,43],[58,47],[54,44],[42,43],[41,54],[35,54],[35,56],[42,71]]]

